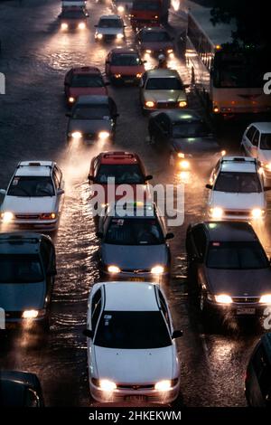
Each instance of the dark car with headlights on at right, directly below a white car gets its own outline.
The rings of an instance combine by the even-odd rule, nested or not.
[[[271,307],[270,261],[248,222],[190,225],[186,250],[204,319],[263,316]]]

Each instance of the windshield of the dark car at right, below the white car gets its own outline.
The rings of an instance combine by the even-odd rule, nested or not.
[[[269,264],[265,251],[257,241],[210,242],[207,267],[210,269],[266,269]]]

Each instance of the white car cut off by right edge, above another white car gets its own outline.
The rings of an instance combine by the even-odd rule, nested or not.
[[[241,148],[247,156],[257,158],[265,177],[271,179],[271,122],[254,122],[246,129]]]

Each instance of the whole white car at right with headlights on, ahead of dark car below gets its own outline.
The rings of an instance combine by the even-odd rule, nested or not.
[[[266,216],[266,190],[258,161],[223,156],[210,175],[208,216],[211,220],[259,220]]]

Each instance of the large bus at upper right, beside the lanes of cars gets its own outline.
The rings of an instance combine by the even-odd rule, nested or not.
[[[217,118],[268,115],[263,52],[240,49],[232,39],[236,23],[214,26],[210,17],[210,8],[189,2],[185,57],[201,99]]]

